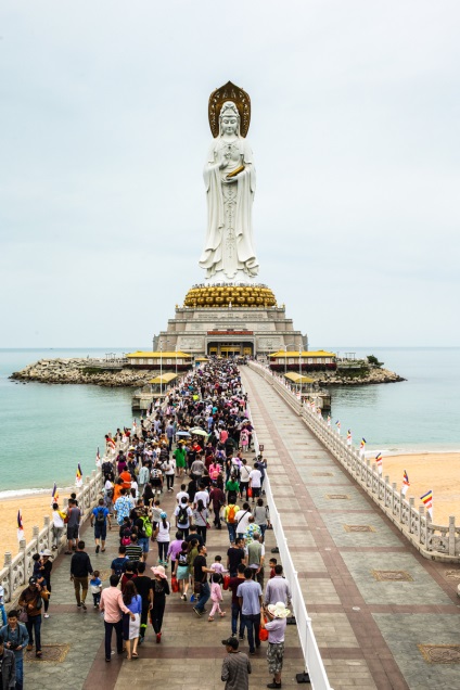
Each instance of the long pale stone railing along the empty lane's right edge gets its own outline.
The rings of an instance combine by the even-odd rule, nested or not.
[[[383,478],[376,464],[363,458],[359,450],[348,445],[335,430],[328,426],[315,407],[305,406],[282,378],[257,362],[251,369],[264,376],[290,407],[305,421],[309,431],[332,456],[347,470],[368,496],[379,506],[394,525],[409,539],[422,555],[446,563],[460,563],[460,526],[453,515],[448,525],[432,523],[424,506],[416,508],[414,498],[407,500],[397,484]]]

